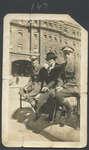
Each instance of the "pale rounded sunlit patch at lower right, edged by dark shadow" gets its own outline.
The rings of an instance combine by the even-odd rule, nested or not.
[[[43,130],[43,133],[48,133],[48,136],[55,138],[56,141],[65,142],[79,142],[80,141],[80,130],[73,129],[69,126],[60,127],[60,125],[52,125]]]

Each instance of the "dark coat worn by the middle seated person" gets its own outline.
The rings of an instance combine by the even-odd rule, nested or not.
[[[46,82],[49,88],[54,88],[60,81],[64,81],[65,78],[65,63],[55,64],[55,67],[49,72],[44,67],[39,72],[39,80]]]

